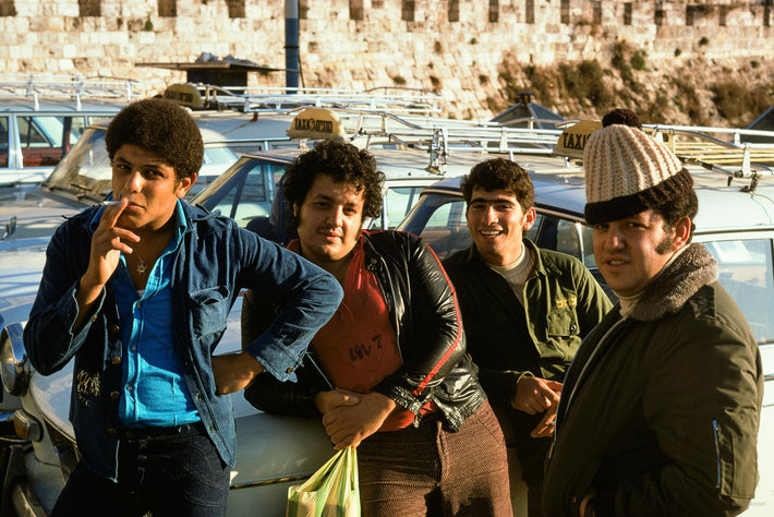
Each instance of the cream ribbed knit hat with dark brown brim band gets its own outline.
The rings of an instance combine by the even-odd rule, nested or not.
[[[628,125],[594,131],[585,144],[583,167],[590,225],[639,214],[693,188],[693,179],[677,156]]]

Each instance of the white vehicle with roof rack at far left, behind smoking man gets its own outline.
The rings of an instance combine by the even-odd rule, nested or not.
[[[39,183],[86,128],[138,97],[137,83],[0,75],[0,187]]]

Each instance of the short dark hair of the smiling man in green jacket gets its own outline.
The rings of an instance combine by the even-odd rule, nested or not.
[[[521,208],[527,212],[535,202],[535,189],[530,175],[516,161],[493,158],[482,161],[470,169],[460,182],[462,197],[470,204],[474,189],[485,191],[504,190],[516,196]]]

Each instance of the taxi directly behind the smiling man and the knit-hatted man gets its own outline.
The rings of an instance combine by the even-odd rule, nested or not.
[[[645,124],[645,131],[670,145],[690,170],[699,197],[693,242],[703,243],[715,257],[721,285],[736,300],[758,338],[764,372],[758,441],[760,481],[745,515],[772,515],[774,447],[769,440],[774,436],[774,170],[767,164],[774,157],[774,145],[771,140],[760,145],[731,145],[717,140],[718,135],[687,127]],[[568,131],[565,133],[563,137]],[[730,134],[731,142],[745,134],[719,129],[717,133]],[[761,132],[754,134],[760,136]],[[772,139],[774,133],[767,136]],[[575,152],[558,152],[578,161],[583,146],[576,147]],[[583,220],[582,169],[548,171],[532,157],[517,161],[529,171],[535,189],[537,219],[527,237],[539,247],[578,257],[606,288],[594,261],[592,229]],[[422,237],[442,258],[468,248],[471,238],[460,178],[444,179],[425,189],[398,229]]]

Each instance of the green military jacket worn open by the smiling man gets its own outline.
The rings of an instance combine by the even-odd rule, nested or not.
[[[579,260],[523,242],[534,257],[524,284],[525,309],[474,245],[444,261],[481,383],[504,407],[510,407],[524,374],[561,382],[583,337],[613,306]]]

